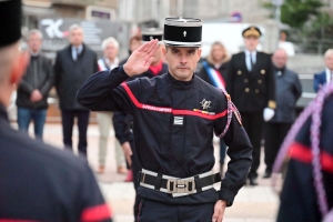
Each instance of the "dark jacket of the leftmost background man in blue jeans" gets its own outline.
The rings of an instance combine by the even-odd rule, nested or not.
[[[31,57],[28,69],[19,84],[17,105],[27,109],[47,109],[49,92],[53,85],[52,61],[41,54]],[[43,98],[31,102],[33,90],[39,90]]]

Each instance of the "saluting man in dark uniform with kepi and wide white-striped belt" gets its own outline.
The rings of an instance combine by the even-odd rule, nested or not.
[[[251,165],[252,147],[241,117],[225,91],[193,74],[201,54],[202,22],[167,18],[164,58],[169,72],[145,72],[158,40],[135,50],[123,67],[91,75],[78,92],[90,110],[118,110],[134,118],[135,151],[142,171],[139,221],[222,221]],[[229,145],[231,158],[221,190],[214,165],[213,132]]]

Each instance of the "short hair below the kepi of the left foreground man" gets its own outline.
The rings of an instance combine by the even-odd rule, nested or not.
[[[0,83],[10,74],[10,65],[19,51],[19,41],[0,48]]]

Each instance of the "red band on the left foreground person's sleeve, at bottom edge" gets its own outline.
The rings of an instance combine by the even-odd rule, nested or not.
[[[97,206],[87,208],[81,213],[81,220],[82,222],[88,221],[102,221],[111,219],[111,210],[110,208],[104,203]]]

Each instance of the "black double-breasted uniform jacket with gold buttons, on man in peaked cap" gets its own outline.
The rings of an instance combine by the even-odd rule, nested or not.
[[[275,78],[271,56],[256,52],[255,64],[250,72],[245,52],[232,56],[226,80],[226,91],[240,112],[260,112],[275,101]]]

